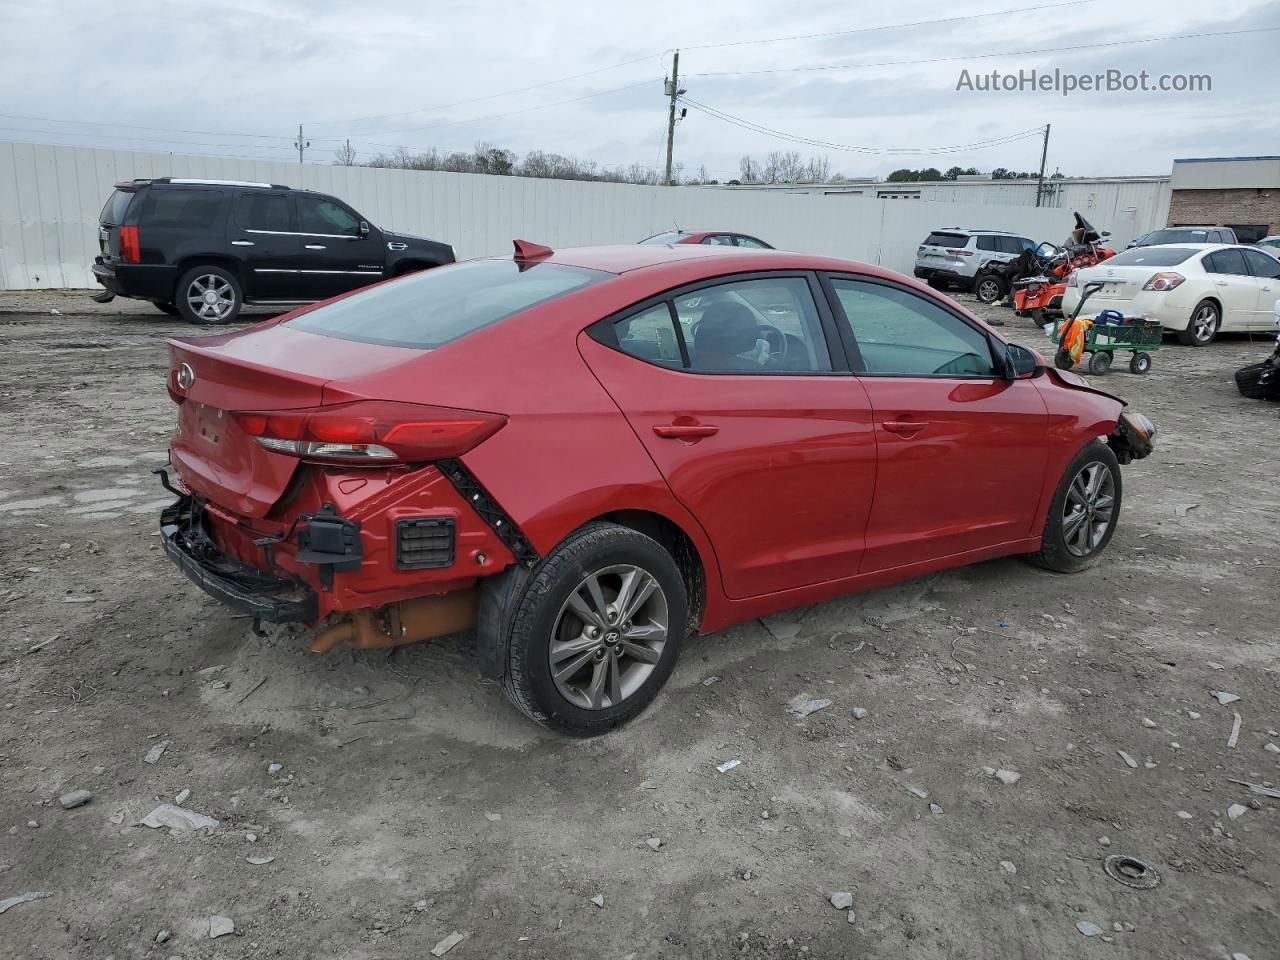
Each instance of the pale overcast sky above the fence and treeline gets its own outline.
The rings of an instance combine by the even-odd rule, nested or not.
[[[301,122],[307,159],[321,163],[349,137],[362,160],[396,145],[489,141],[517,154],[657,166],[662,78],[680,47],[689,97],[827,143],[933,148],[1052,123],[1048,169],[1068,175],[1165,174],[1174,157],[1280,152],[1280,32],[1018,55],[1280,28],[1280,4],[1094,0],[1009,13],[1046,3],[132,0],[120,12],[101,0],[0,0],[0,138],[288,160]],[[868,29],[989,12],[1004,13]],[[860,32],[741,42],[837,31]],[[900,63],[937,58],[980,59]],[[847,67],[886,63],[896,65]],[[828,67],[837,69],[812,69]],[[961,69],[1030,68],[1207,73],[1212,92],[956,90]],[[589,76],[563,79],[575,74]],[[1032,137],[943,155],[823,150],[695,109],[676,133],[685,173],[705,165],[721,179],[737,174],[741,155],[771,150],[826,154],[833,170],[868,177],[954,164],[1032,170],[1039,148]]]

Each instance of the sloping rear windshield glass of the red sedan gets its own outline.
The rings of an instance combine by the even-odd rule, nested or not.
[[[472,260],[383,283],[288,325],[389,347],[439,347],[612,274],[561,264]]]

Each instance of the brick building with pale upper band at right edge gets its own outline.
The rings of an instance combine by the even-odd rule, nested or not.
[[[1174,160],[1169,225],[1231,227],[1245,243],[1280,233],[1280,156]]]

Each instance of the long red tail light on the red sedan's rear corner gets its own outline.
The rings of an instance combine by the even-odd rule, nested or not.
[[[498,413],[394,401],[242,411],[239,428],[269,451],[302,460],[404,463],[460,457],[507,422]]]

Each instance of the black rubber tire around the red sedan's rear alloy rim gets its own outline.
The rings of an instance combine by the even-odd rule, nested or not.
[[[630,694],[623,694],[617,703],[602,701],[600,707],[593,709],[571,700],[553,677],[550,662],[553,631],[557,627],[564,630],[567,626],[572,634],[572,628],[577,626],[581,628],[581,637],[585,637],[589,627],[585,626],[585,620],[568,609],[570,598],[577,594],[589,576],[595,573],[600,573],[602,588],[608,591],[609,577],[614,575],[607,571],[620,566],[634,566],[657,581],[658,593],[666,605],[666,639],[660,652],[657,653],[658,659],[652,664],[635,660],[623,667],[622,654],[618,654],[617,671],[637,666],[652,669],[646,675],[641,671],[644,676],[637,686]],[[654,596],[654,600],[657,599]],[[559,733],[579,737],[607,733],[640,713],[667,682],[680,655],[680,644],[687,623],[689,600],[685,581],[671,554],[657,540],[630,527],[604,522],[588,524],[571,534],[539,563],[515,602],[507,645],[504,684],[507,698],[526,717]],[[594,673],[595,663],[608,659],[611,653],[617,650],[614,645],[605,648],[603,644],[625,646],[616,639],[609,641],[608,637],[616,636],[616,631],[609,626],[605,626],[605,630],[611,632],[604,634],[600,640],[604,658],[598,658],[599,650],[595,650],[593,659],[581,664],[581,669],[593,671],[593,676],[598,676]],[[557,643],[564,643],[564,637]],[[572,663],[576,657],[577,654],[566,657],[566,660]],[[611,678],[616,676],[611,673],[608,663],[604,671]],[[621,685],[618,689],[622,689]]]

